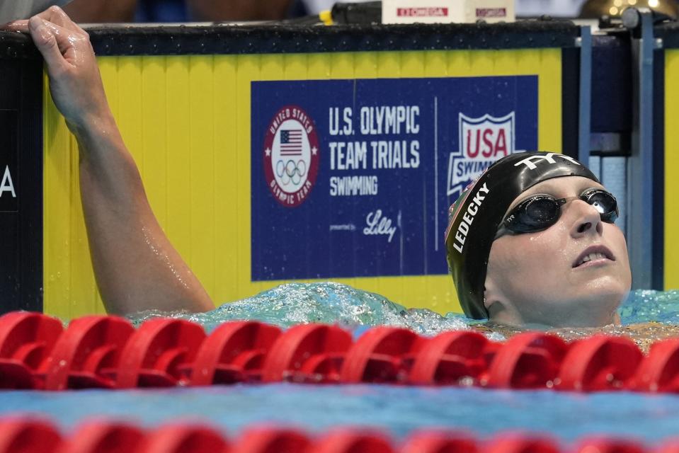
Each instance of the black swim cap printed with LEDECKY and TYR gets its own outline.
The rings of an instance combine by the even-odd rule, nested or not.
[[[510,154],[491,165],[450,206],[445,230],[447,260],[464,314],[488,317],[484,285],[491,245],[508,207],[544,180],[583,176],[599,180],[570,156],[547,152]]]

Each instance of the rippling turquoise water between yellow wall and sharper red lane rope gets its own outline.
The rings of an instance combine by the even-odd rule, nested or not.
[[[619,311],[622,326],[561,328],[552,332],[566,339],[602,332],[626,335],[643,349],[661,338],[679,335],[679,291],[633,291]],[[526,330],[475,321],[460,314],[442,316],[428,309],[406,309],[380,294],[335,282],[288,283],[207,313],[150,310],[134,316],[132,321],[139,325],[161,316],[200,323],[207,332],[236,320],[263,321],[282,328],[299,323],[332,323],[352,331],[354,336],[372,326],[405,327],[425,336],[474,328],[496,341]]]

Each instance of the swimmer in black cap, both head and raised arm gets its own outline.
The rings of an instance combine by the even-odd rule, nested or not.
[[[215,308],[159,226],[105,98],[87,33],[60,8],[9,25],[45,58],[80,152],[91,258],[109,313]],[[513,326],[603,326],[629,291],[615,198],[559,154],[513,154],[451,207],[448,262],[465,314]]]

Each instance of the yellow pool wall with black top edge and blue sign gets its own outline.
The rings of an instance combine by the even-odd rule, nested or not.
[[[89,33],[153,210],[217,303],[324,279],[459,311],[442,243],[464,172],[577,153],[568,23]],[[45,215],[45,311],[102,312],[76,144],[48,96],[45,110],[45,212],[68,213]]]

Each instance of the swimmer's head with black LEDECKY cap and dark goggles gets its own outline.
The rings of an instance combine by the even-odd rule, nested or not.
[[[632,274],[618,214],[569,156],[497,161],[449,210],[447,260],[464,313],[511,326],[619,323]]]

